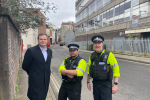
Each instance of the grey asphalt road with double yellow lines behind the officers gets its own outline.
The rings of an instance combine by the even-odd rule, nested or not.
[[[61,75],[58,72],[62,61],[69,56],[69,51],[59,45],[51,46],[53,59],[51,64],[50,85],[58,98],[61,86]],[[79,55],[88,62],[90,53],[79,52]],[[149,100],[150,99],[150,65],[117,59],[120,66],[118,92],[113,95],[113,100]],[[82,80],[81,100],[93,100],[93,91],[87,89],[87,74]],[[92,80],[91,80],[92,83]]]

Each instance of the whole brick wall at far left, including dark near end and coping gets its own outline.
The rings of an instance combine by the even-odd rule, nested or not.
[[[13,100],[19,70],[20,37],[7,12],[0,8],[0,100]]]

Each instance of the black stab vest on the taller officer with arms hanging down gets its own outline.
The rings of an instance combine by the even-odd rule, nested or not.
[[[105,51],[101,56],[96,52],[91,54],[90,76],[94,80],[112,80],[113,71],[107,64],[109,53],[109,51]]]

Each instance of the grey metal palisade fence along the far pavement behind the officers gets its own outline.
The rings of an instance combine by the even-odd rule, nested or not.
[[[87,41],[71,42],[80,46],[80,49],[87,49]],[[93,44],[88,41],[88,46]],[[138,55],[150,55],[150,39],[122,39],[122,40],[105,40],[106,49],[113,52],[132,53]],[[68,45],[68,43],[66,44]],[[88,47],[89,48],[89,47]]]

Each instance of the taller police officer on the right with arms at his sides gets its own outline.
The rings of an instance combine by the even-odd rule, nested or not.
[[[91,91],[90,77],[92,77],[94,100],[112,100],[112,94],[117,92],[120,77],[118,62],[112,52],[103,50],[104,37],[96,35],[91,40],[95,52],[89,56],[87,88]]]

